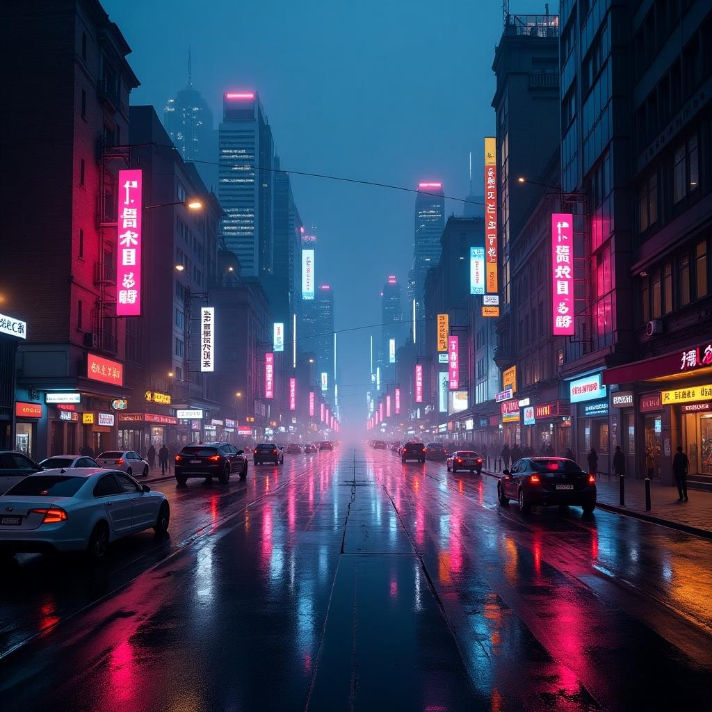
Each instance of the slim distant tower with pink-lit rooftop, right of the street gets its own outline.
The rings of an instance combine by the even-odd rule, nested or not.
[[[418,184],[415,199],[415,245],[413,256],[416,318],[424,318],[425,277],[440,259],[440,238],[445,226],[445,194],[442,183]],[[419,326],[419,325],[418,325]]]

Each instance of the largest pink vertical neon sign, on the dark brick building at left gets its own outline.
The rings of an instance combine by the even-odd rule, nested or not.
[[[142,171],[120,170],[118,185],[116,315],[138,316],[141,313]]]

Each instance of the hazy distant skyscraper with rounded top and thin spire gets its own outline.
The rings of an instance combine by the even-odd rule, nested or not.
[[[217,145],[213,113],[201,93],[193,88],[190,51],[187,86],[174,99],[168,100],[163,112],[163,125],[182,159],[185,162],[197,162],[196,167],[206,186],[217,187],[217,171],[214,166]]]

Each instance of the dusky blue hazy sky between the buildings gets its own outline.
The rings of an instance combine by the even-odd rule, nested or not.
[[[441,180],[445,194],[481,194],[501,5],[474,0],[246,2],[103,0],[133,52],[141,82],[132,104],[159,117],[193,85],[221,120],[224,90],[258,90],[282,167],[403,187]],[[552,12],[557,3],[551,3]],[[544,12],[520,0],[513,13]],[[317,283],[335,293],[336,329],[380,321],[387,274],[404,285],[413,259],[414,194],[292,177],[306,226],[315,224]],[[460,214],[448,200],[446,214]],[[342,419],[365,417],[369,335],[338,336]],[[350,394],[350,395],[349,395]]]

